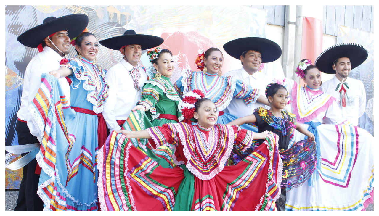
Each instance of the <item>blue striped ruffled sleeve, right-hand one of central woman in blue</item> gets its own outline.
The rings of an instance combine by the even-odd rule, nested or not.
[[[247,106],[251,106],[260,96],[260,89],[253,89],[241,80],[236,79],[236,85],[233,97],[243,99]]]

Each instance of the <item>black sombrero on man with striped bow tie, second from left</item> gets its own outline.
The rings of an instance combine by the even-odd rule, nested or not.
[[[137,34],[133,29],[124,32],[124,35],[104,39],[99,41],[101,45],[112,50],[119,50],[125,45],[138,44],[141,45],[142,50],[147,50],[163,44],[163,38],[147,35]]]

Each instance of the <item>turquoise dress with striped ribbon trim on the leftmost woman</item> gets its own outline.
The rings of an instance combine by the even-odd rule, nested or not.
[[[91,110],[96,114],[101,113],[109,88],[105,81],[105,71],[85,58],[68,60],[61,66],[74,71],[68,76],[72,80],[70,106]],[[51,85],[54,88],[52,96],[60,93],[60,86],[56,85],[59,85],[59,82]],[[51,98],[53,101],[50,105],[54,103],[57,107],[64,103],[62,100],[54,100],[55,97]],[[66,105],[61,109],[63,115],[59,110],[57,112],[57,109],[48,111],[47,116],[50,112],[55,112],[56,118],[53,114],[50,120],[45,121],[45,128],[49,126],[49,121],[58,119],[55,134],[50,131],[49,135],[49,141],[55,146],[46,145],[43,151],[41,147],[41,156],[50,160],[39,161],[42,171],[39,181],[41,189],[38,193],[44,201],[45,210],[97,210],[98,117],[75,112],[70,106]],[[62,133],[66,136],[59,136]]]

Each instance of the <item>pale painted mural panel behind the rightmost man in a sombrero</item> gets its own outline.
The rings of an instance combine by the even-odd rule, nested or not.
[[[349,77],[363,82],[366,90],[366,111],[359,118],[359,127],[374,136],[374,33],[356,28],[338,26],[337,44],[357,43],[368,50],[368,58],[351,70]]]

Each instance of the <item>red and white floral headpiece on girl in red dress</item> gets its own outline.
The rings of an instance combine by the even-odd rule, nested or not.
[[[195,112],[195,103],[200,99],[205,97],[204,93],[199,89],[194,89],[193,91],[187,92],[183,95],[183,100],[179,102],[180,112],[184,115],[185,119],[193,118],[193,113]]]

